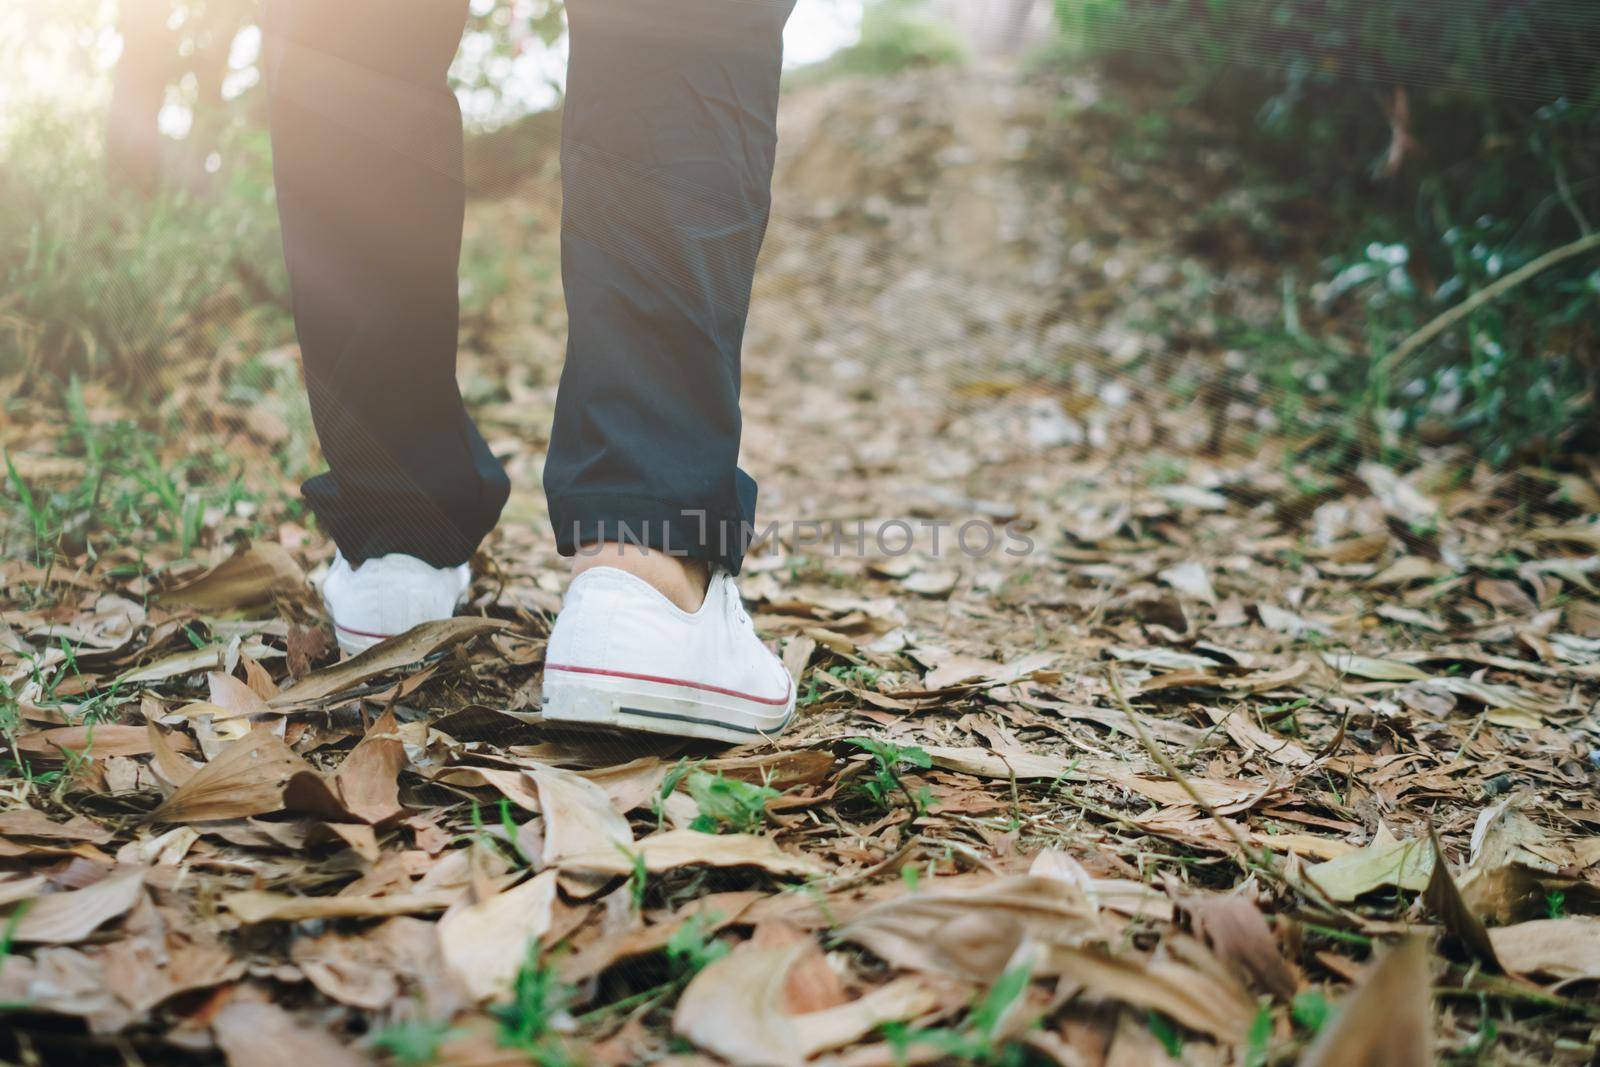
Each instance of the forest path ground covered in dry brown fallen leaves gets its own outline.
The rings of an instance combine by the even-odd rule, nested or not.
[[[1600,483],[1296,461],[1219,330],[1293,254],[1099,93],[786,102],[770,745],[539,723],[549,173],[469,210],[517,488],[453,622],[338,661],[293,349],[237,328],[142,405],[6,382],[0,1056],[1590,1062]]]

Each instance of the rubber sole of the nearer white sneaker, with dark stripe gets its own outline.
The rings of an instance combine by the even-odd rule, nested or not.
[[[544,720],[573,726],[627,729],[728,744],[757,744],[794,720],[794,686],[784,704],[627,675],[584,673],[552,685],[546,669]],[[565,672],[563,672],[565,673]]]

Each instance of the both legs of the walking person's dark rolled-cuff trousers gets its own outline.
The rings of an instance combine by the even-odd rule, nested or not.
[[[568,0],[562,278],[544,467],[557,545],[739,569],[739,349],[766,232],[795,0]],[[272,155],[344,555],[467,560],[509,493],[456,389],[467,0],[269,0]]]

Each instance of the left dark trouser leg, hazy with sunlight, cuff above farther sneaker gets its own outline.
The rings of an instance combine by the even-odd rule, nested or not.
[[[456,389],[467,0],[269,0],[272,155],[330,470],[306,499],[346,560],[470,558],[504,470]]]

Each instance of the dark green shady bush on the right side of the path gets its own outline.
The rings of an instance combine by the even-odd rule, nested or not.
[[[1600,256],[1474,312],[1378,381],[1414,328],[1600,224],[1600,5],[1568,0],[1056,0],[1110,74],[1163,85],[1326,205],[1317,306],[1365,346],[1258,338],[1283,381],[1357,405],[1341,450],[1461,440],[1506,461],[1590,430]],[[1286,317],[1288,318],[1288,317]],[[1288,362],[1291,370],[1285,370]]]

